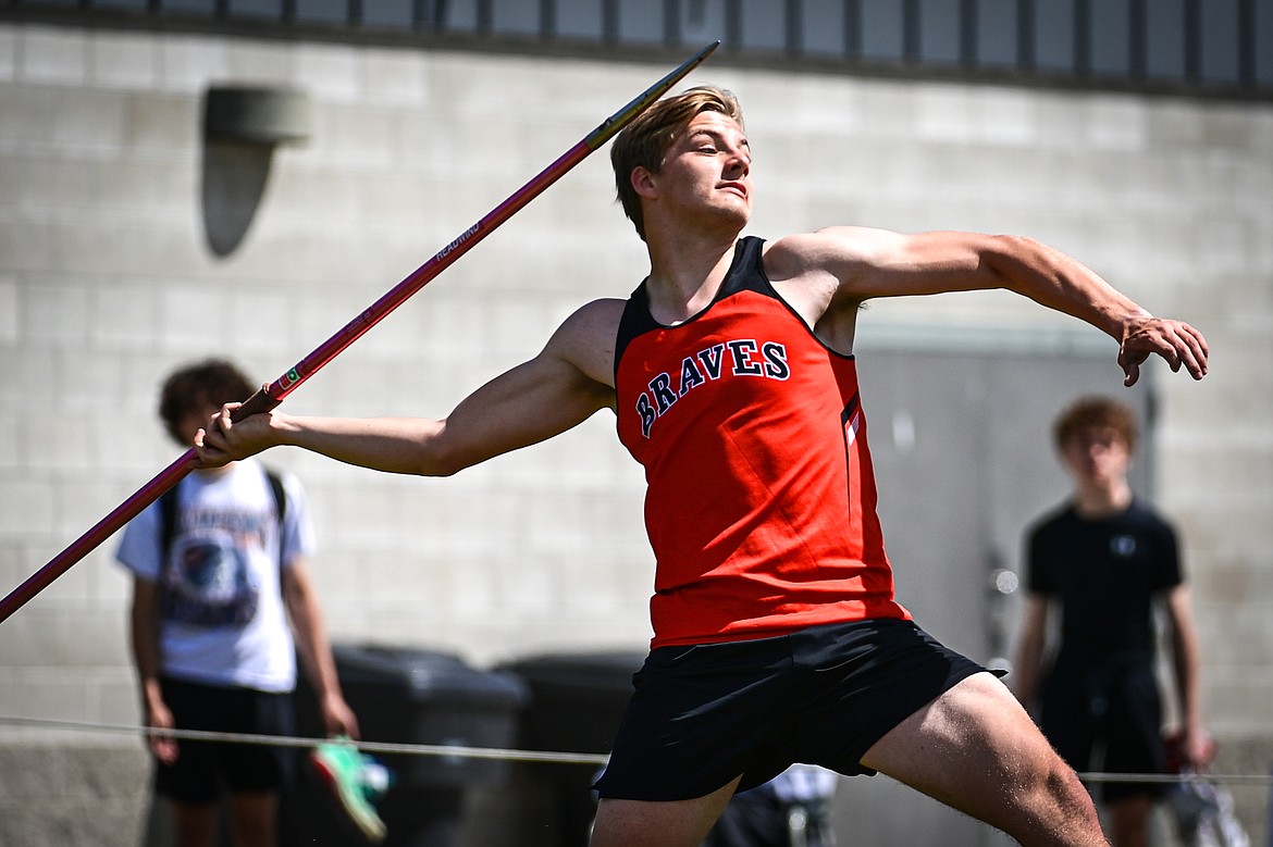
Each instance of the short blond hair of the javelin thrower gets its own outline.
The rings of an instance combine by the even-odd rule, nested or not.
[[[640,196],[633,188],[636,168],[658,173],[676,134],[701,112],[721,112],[742,126],[742,107],[732,92],[704,85],[662,99],[629,123],[610,148],[610,164],[615,170],[615,188],[636,234],[645,240],[645,220]]]

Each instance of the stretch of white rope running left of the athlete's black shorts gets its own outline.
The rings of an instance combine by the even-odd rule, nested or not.
[[[199,741],[224,741],[227,744],[257,744],[264,747],[311,748],[327,741],[322,738],[297,738],[286,735],[252,735],[247,733],[211,733],[206,730],[164,730],[126,724],[90,724],[84,721],[57,721],[42,717],[5,717],[0,725],[33,726],[41,729],[108,733],[123,735],[158,735]],[[435,755],[440,758],[502,759],[507,762],[552,762],[559,764],[605,764],[610,757],[602,753],[554,753],[550,750],[508,750],[488,747],[461,747],[452,744],[392,744],[387,741],[350,741],[364,753],[404,753],[409,755]]]

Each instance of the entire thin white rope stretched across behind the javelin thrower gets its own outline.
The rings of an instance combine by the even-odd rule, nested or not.
[[[159,735],[163,738],[227,744],[257,744],[264,747],[311,748],[327,739],[286,735],[252,735],[247,733],[211,733],[205,730],[162,730],[126,724],[92,724],[85,721],[59,721],[42,717],[0,716],[0,725],[32,726],[39,729],[74,730],[81,733],[108,733],[116,735]],[[406,755],[434,755],[452,759],[499,759],[505,762],[549,762],[556,764],[606,764],[605,753],[556,753],[551,750],[512,750],[490,747],[461,747],[452,744],[396,744],[388,741],[350,741],[364,753],[398,753]],[[1080,773],[1085,782],[1222,782],[1227,785],[1273,785],[1273,773]]]

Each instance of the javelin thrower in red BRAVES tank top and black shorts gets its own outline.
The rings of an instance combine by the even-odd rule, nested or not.
[[[733,95],[693,89],[611,159],[649,253],[630,300],[583,305],[530,361],[444,420],[313,418],[233,406],[213,465],[279,444],[444,476],[610,408],[645,467],[654,638],[597,783],[594,847],[696,846],[737,788],[793,762],[880,771],[1026,844],[1105,844],[1091,800],[993,675],[892,595],[857,389],[871,298],[1003,287],[1195,379],[1207,345],[1023,238],[831,228],[740,240],[751,150]]]

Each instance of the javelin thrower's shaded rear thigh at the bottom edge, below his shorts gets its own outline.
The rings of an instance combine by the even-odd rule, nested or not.
[[[591,847],[699,847],[738,785],[693,800],[616,800],[597,805]]]

